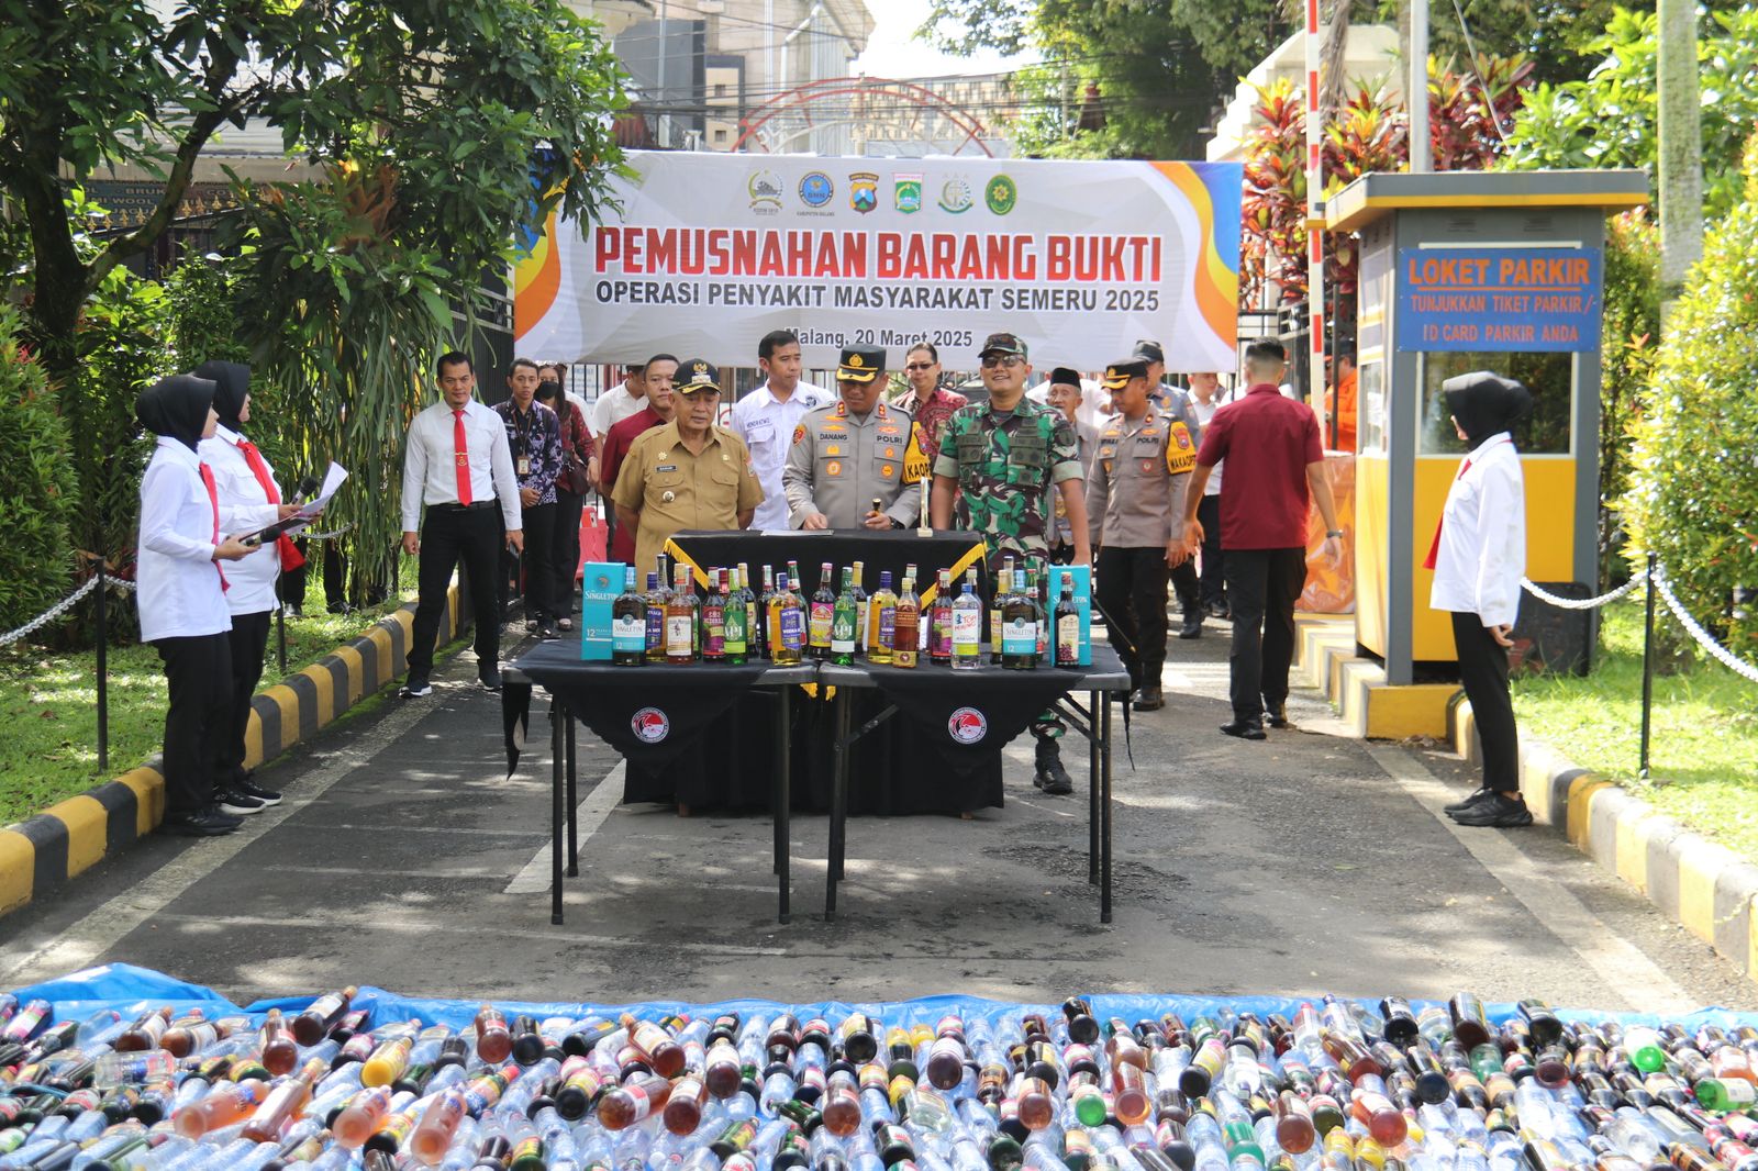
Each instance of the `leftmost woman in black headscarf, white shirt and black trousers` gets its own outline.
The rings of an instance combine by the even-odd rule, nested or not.
[[[165,821],[169,833],[230,833],[239,818],[214,802],[213,742],[230,721],[232,617],[222,561],[250,554],[220,533],[213,471],[197,457],[214,433],[214,383],[178,375],[135,399],[141,425],[158,436],[141,478],[141,531],[135,543],[135,601],[141,642],[165,663]]]

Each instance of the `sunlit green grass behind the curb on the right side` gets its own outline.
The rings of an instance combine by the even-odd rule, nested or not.
[[[1758,684],[1707,656],[1682,673],[1656,675],[1653,775],[1644,782],[1642,591],[1603,614],[1591,675],[1515,680],[1521,728],[1758,863]]]

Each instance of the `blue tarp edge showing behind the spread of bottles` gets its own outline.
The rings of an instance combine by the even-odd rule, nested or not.
[[[316,995],[299,995],[283,997],[274,1000],[257,1000],[250,1006],[237,1006],[222,997],[213,988],[204,988],[202,985],[185,983],[163,972],[155,972],[146,967],[134,967],[132,964],[105,964],[104,967],[91,967],[83,972],[74,972],[62,979],[53,979],[40,985],[28,985],[25,988],[12,990],[19,1000],[28,1000],[33,997],[42,997],[54,1004],[56,1020],[81,1020],[98,1009],[116,1009],[123,1015],[141,1013],[149,1007],[158,1007],[169,1004],[174,1009],[200,1007],[213,1016],[250,1013],[251,1016],[262,1016],[271,1007],[281,1011],[299,1011],[308,1006]],[[1123,995],[1123,993],[1104,993],[1104,992],[1086,992],[1076,993],[1085,995],[1092,1000],[1093,1015],[1104,1022],[1111,1016],[1122,1016],[1127,1022],[1137,1022],[1144,1016],[1159,1018],[1164,1013],[1176,1013],[1183,1020],[1194,1016],[1213,1015],[1224,1009],[1234,1013],[1252,1011],[1259,1016],[1268,1016],[1269,1013],[1282,1013],[1292,1016],[1294,1011],[1318,997],[1192,997],[1192,995]],[[353,1000],[355,1007],[371,1009],[373,1023],[381,1025],[390,1020],[408,1020],[420,1018],[425,1023],[443,1023],[454,1029],[462,1029],[471,1023],[480,1007],[480,1000],[436,1000],[424,997],[404,997],[396,992],[387,992],[383,988],[362,986],[360,993]],[[939,997],[921,997],[916,1000],[861,1000],[861,1002],[842,1002],[842,1000],[819,1000],[814,1004],[782,1004],[777,1000],[719,1000],[714,1004],[694,1004],[689,1000],[642,1000],[636,1004],[605,1004],[596,1000],[547,1000],[547,1002],[529,1002],[529,1000],[494,1000],[508,1016],[517,1013],[527,1013],[536,1018],[543,1016],[614,1016],[621,1011],[635,1013],[642,1018],[656,1018],[665,1013],[689,1013],[691,1016],[716,1015],[723,1011],[738,1011],[745,1016],[752,1013],[774,1015],[782,1009],[800,1015],[802,1018],[825,1016],[832,1023],[842,1020],[849,1013],[868,1013],[886,1022],[888,1025],[914,1025],[918,1022],[933,1025],[941,1016],[948,1013],[958,1013],[965,1018],[986,1018],[995,1020],[997,1016],[1020,1013],[1020,1011],[1057,1011],[1055,1004],[1013,1004],[1004,1000],[988,1000],[983,997],[960,997],[960,995],[939,995]],[[1369,1006],[1377,1002],[1368,1000]],[[1427,1000],[1412,1000],[1412,1006],[1419,1011],[1429,1004]],[[1486,1006],[1489,1018],[1493,1022],[1501,1022],[1515,1013],[1512,1004],[1489,1004]],[[1593,1009],[1566,1009],[1558,1007],[1558,1015],[1565,1020],[1619,1020],[1624,1023],[1658,1023],[1658,1016],[1653,1013],[1605,1013]],[[1737,1025],[1754,1025],[1758,1027],[1758,1013],[1733,1013],[1719,1007],[1705,1007],[1696,1013],[1684,1016],[1668,1016],[1667,1020],[1675,1020],[1689,1027],[1714,1023],[1721,1027]]]

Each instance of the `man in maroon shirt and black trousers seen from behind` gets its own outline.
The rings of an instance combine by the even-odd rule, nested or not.
[[[1232,605],[1231,737],[1264,738],[1287,728],[1289,665],[1294,661],[1294,603],[1306,587],[1306,513],[1318,501],[1324,554],[1343,556],[1341,529],[1324,473],[1318,418],[1278,383],[1287,369],[1280,341],[1253,341],[1245,350],[1243,397],[1227,403],[1202,429],[1197,468],[1185,491],[1185,549],[1202,547],[1197,506],[1210,469],[1227,461],[1220,485],[1220,543],[1227,550],[1227,600]],[[1308,496],[1310,492],[1310,496]]]

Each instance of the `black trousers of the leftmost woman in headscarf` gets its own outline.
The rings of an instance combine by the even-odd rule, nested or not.
[[[195,812],[214,800],[214,744],[232,721],[232,642],[225,631],[160,638],[171,703],[165,709],[165,812]]]

